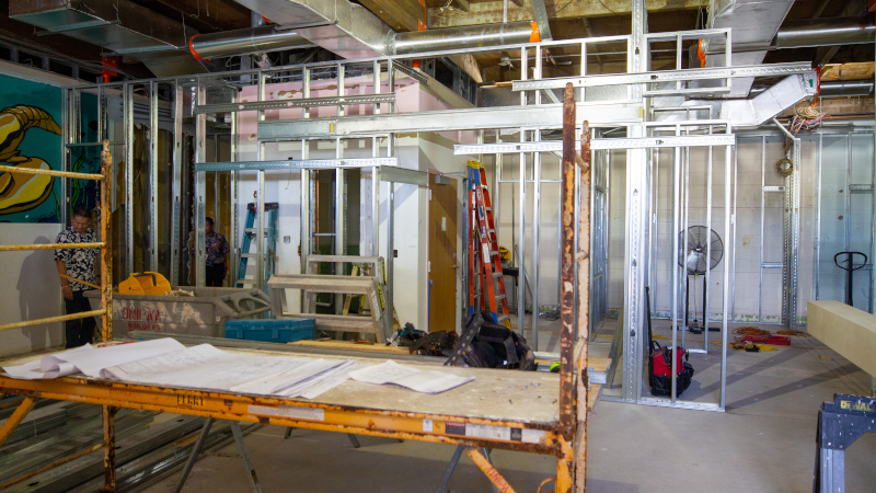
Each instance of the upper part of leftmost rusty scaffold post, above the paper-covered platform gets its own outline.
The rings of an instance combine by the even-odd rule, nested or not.
[[[101,151],[101,340],[113,340],[113,239],[110,218],[113,193],[113,153],[110,151],[110,141],[103,141]],[[115,483],[115,482],[114,482]]]

